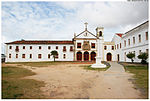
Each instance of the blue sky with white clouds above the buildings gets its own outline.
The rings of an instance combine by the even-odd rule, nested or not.
[[[72,40],[74,33],[104,27],[104,40],[148,20],[145,1],[24,1],[1,3],[1,48],[15,40]]]

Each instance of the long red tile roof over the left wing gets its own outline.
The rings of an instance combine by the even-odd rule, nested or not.
[[[21,40],[21,41],[13,41],[13,42],[9,42],[6,44],[73,44],[73,41],[37,41],[37,40],[32,40],[32,41],[27,41],[27,40]]]

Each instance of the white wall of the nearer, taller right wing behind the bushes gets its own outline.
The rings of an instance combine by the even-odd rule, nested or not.
[[[135,59],[134,62],[140,62],[141,60],[137,58],[137,56],[140,54],[139,50],[141,52],[146,52],[146,49],[149,49],[148,40],[146,40],[146,32],[148,32],[148,24],[145,24],[141,26],[140,28],[137,28],[136,30],[129,32],[127,35],[123,36],[123,40],[127,40],[127,46],[123,47],[122,51],[123,53],[126,52],[128,54],[129,52],[135,51]],[[139,34],[141,35],[141,42],[139,42]],[[133,44],[133,37],[135,37],[135,44]],[[130,46],[128,45],[128,39],[130,39]],[[123,55],[124,56],[124,55]],[[124,61],[126,59],[126,62],[131,62],[130,59],[124,56]]]

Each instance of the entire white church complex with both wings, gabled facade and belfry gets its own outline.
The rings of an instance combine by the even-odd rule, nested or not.
[[[38,62],[53,61],[51,51],[56,50],[56,61],[95,61],[97,56],[97,39],[102,37],[102,61],[131,62],[126,57],[134,52],[134,62],[140,62],[137,56],[141,52],[148,53],[148,21],[127,31],[116,33],[111,42],[104,41],[104,28],[97,27],[96,34],[87,29],[69,41],[52,40],[20,40],[6,43],[6,62]]]

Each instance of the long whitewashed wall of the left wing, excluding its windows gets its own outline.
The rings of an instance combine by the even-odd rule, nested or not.
[[[12,49],[9,49],[9,46],[12,46]],[[16,52],[16,46],[19,46],[19,52]],[[25,46],[25,49],[23,49],[23,46]],[[30,46],[32,46],[32,49],[30,49]],[[42,47],[42,49],[39,49],[39,46]],[[51,46],[51,49],[48,49],[48,46]],[[58,46],[58,49],[56,49],[56,46]],[[63,52],[63,46],[66,46],[66,52]],[[7,45],[7,58],[6,62],[32,62],[32,61],[53,61],[53,56],[48,59],[48,54],[50,54],[51,51],[56,50],[59,54],[59,58],[56,59],[56,61],[73,61],[73,51],[70,51],[70,46],[74,46],[73,44],[9,44]],[[74,47],[73,47],[74,48]],[[11,58],[9,58],[9,54],[11,54]],[[18,54],[18,58],[16,58],[16,54]],[[25,54],[26,57],[22,58],[22,54]],[[32,58],[30,59],[30,54],[32,54]],[[42,58],[38,59],[38,54],[42,54]],[[66,58],[63,58],[63,54],[66,54]]]

